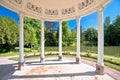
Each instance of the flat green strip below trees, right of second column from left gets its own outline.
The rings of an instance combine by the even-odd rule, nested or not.
[[[58,47],[45,47],[46,52],[58,52]],[[63,47],[63,52],[76,52],[76,47]],[[81,52],[91,52],[97,54],[96,46],[81,46]],[[120,58],[120,46],[105,46],[104,54],[108,56],[114,56]]]

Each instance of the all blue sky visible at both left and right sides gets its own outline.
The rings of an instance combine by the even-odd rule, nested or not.
[[[98,25],[98,13],[94,12],[92,14],[89,14],[85,17],[81,18],[80,24],[82,26],[83,30],[86,30],[89,27],[94,27],[97,29]],[[104,9],[104,19],[107,16],[110,16],[111,23],[116,18],[117,15],[120,15],[120,0],[112,0],[110,4],[106,6]],[[2,6],[0,6],[0,16],[8,16],[10,18],[15,19],[15,21],[18,23],[19,18],[17,13],[12,12]],[[69,20],[69,28],[74,29],[76,27],[76,20]]]

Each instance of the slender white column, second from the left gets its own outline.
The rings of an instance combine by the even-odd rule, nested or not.
[[[44,21],[41,20],[41,62],[44,62]]]

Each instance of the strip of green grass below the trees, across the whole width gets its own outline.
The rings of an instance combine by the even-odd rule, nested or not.
[[[62,48],[63,52],[76,52],[76,47],[67,46]],[[45,47],[45,52],[58,52],[58,47]],[[81,46],[82,52],[90,52],[97,54],[97,47],[93,46]],[[19,48],[16,47],[14,51],[10,51],[7,53],[0,53],[0,56],[14,56],[18,55]],[[24,48],[25,54],[31,53],[40,53],[40,48],[38,50],[31,50],[29,48]],[[120,58],[120,46],[105,46],[104,47],[104,54],[108,56],[114,56]]]

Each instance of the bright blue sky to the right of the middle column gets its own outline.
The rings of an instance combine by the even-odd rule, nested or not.
[[[112,0],[110,4],[108,4],[104,9],[104,20],[107,16],[110,16],[111,23],[116,18],[117,15],[120,15],[120,0]],[[75,24],[72,24],[75,23]],[[86,30],[89,27],[94,27],[97,29],[98,26],[98,13],[94,12],[85,17],[81,18],[80,24],[82,26],[82,30]],[[76,26],[76,20],[69,21],[69,25],[71,28]]]

